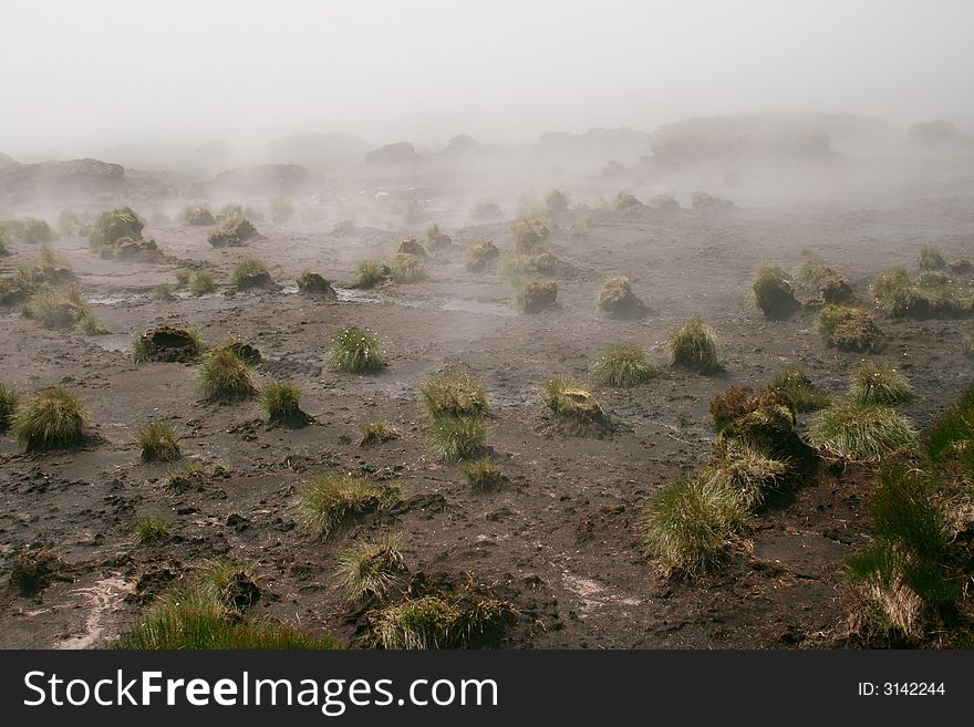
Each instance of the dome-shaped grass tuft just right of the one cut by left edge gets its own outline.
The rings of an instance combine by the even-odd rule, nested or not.
[[[11,430],[27,451],[66,449],[85,440],[89,418],[75,394],[51,386],[35,391],[17,407]]]

